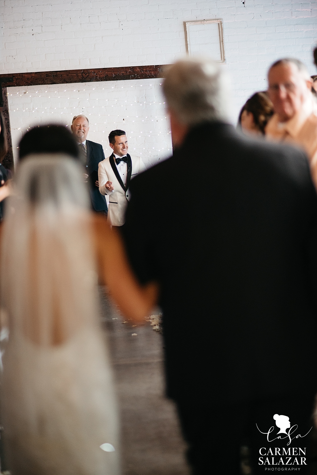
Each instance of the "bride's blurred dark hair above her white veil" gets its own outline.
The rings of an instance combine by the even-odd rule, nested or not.
[[[48,124],[34,127],[25,133],[19,143],[19,160],[33,153],[66,153],[79,157],[73,135],[63,125]]]

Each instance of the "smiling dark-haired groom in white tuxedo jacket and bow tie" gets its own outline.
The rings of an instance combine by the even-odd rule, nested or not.
[[[146,169],[140,157],[129,155],[124,130],[110,132],[109,145],[113,153],[99,162],[99,191],[109,195],[108,221],[112,226],[122,226],[130,199],[130,180]]]

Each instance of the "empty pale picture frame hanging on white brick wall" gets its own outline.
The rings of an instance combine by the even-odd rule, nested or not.
[[[189,56],[209,56],[225,63],[221,19],[184,21],[186,51]]]

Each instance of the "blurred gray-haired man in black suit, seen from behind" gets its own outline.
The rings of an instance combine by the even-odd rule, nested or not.
[[[207,60],[167,72],[175,152],[131,182],[125,243],[140,282],[161,287],[167,394],[192,473],[306,473],[317,195],[303,151],[228,123],[224,74]]]

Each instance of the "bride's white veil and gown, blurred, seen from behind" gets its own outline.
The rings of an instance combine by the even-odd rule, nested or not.
[[[117,410],[98,327],[82,170],[66,155],[29,156],[15,188],[0,273],[10,328],[1,388],[9,468],[17,475],[118,475]],[[104,443],[115,452],[101,450]]]

